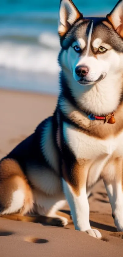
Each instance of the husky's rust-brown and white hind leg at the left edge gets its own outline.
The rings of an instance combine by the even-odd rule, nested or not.
[[[31,189],[19,163],[3,159],[0,163],[0,214],[25,214],[32,205]]]

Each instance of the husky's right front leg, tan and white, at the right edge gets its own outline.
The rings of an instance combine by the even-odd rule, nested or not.
[[[112,216],[118,231],[123,231],[123,184],[122,160],[108,163],[103,181],[112,207]]]

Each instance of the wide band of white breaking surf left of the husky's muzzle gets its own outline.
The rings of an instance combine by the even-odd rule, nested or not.
[[[55,74],[59,71],[57,56],[58,51],[52,49],[11,42],[0,43],[0,67]]]

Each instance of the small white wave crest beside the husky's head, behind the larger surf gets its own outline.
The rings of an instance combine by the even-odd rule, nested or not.
[[[50,48],[60,49],[59,37],[51,32],[44,32],[39,36],[39,42]]]

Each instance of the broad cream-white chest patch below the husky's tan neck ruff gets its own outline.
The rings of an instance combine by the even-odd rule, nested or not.
[[[114,152],[117,157],[123,156],[123,132],[106,140],[78,132],[74,126],[63,124],[64,138],[77,159],[97,159],[105,155],[110,157]]]

